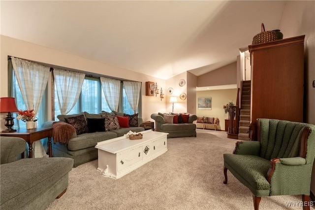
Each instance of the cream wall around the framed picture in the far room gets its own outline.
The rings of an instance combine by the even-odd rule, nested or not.
[[[233,101],[236,102],[237,89],[225,89],[225,90],[207,90],[197,91],[196,97],[211,97],[212,98],[212,109],[198,109],[198,102],[196,100],[196,115],[198,117],[218,117],[220,119],[219,130],[224,131],[224,119],[228,118],[228,113],[224,113],[223,105]],[[201,128],[197,125],[197,128]]]

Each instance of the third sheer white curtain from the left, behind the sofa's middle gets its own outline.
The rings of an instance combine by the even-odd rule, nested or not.
[[[105,100],[112,111],[118,111],[120,96],[120,80],[100,77]]]

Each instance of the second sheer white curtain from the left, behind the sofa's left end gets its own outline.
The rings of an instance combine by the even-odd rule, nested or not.
[[[85,73],[54,69],[53,74],[61,114],[67,114],[78,101]]]

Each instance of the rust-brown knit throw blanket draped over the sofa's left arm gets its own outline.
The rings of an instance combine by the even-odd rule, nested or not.
[[[68,141],[76,134],[75,128],[65,122],[59,121],[52,124],[54,143],[68,143]]]

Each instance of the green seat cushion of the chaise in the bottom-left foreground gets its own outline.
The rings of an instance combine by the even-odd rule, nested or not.
[[[24,209],[28,202],[53,188],[72,166],[73,159],[57,157],[26,158],[2,164],[1,209],[12,209],[13,206],[14,209]]]

